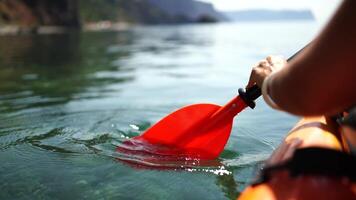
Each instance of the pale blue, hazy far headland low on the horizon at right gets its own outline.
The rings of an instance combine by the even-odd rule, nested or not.
[[[224,12],[232,21],[314,20],[310,10],[242,10]]]

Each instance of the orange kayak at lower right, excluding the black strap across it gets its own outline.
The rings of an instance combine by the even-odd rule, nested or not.
[[[346,151],[341,135],[332,120],[325,117],[304,118],[290,131],[266,162],[266,166],[284,163],[294,155],[294,152],[309,148],[335,150],[333,152],[336,153]],[[303,162],[312,161],[308,159]],[[290,170],[281,169],[274,171],[269,179],[246,188],[238,199],[356,200],[356,183],[346,177],[320,174],[292,176]]]

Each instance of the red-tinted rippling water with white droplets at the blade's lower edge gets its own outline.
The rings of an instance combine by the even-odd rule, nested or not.
[[[152,145],[137,139],[126,140],[118,144],[112,157],[136,169],[204,172],[215,175],[231,174],[220,160],[189,157],[174,148]]]

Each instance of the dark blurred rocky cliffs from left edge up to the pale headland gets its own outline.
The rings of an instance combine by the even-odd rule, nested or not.
[[[137,24],[222,19],[211,4],[195,0],[0,0],[0,24],[79,28],[98,21]]]

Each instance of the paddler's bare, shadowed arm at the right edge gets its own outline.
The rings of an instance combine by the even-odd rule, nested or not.
[[[282,110],[334,114],[355,103],[355,10],[356,1],[344,1],[313,44],[272,77],[270,96]]]

